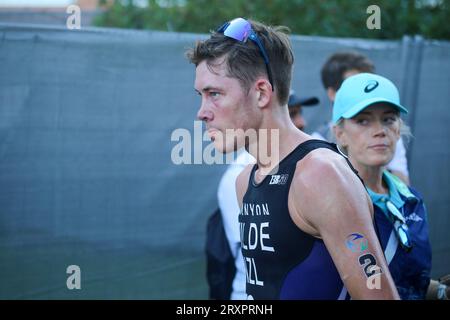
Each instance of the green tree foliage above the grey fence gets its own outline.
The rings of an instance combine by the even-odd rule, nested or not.
[[[366,26],[372,4],[380,8],[379,30]],[[450,39],[450,0],[147,0],[145,6],[142,0],[116,0],[105,8],[98,26],[206,33],[246,17],[301,35]]]

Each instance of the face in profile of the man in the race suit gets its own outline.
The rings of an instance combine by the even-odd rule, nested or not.
[[[227,153],[244,146],[242,132],[256,128],[261,114],[254,95],[247,94],[236,78],[228,77],[226,64],[220,62],[216,60],[214,66],[201,62],[196,68],[194,86],[202,97],[197,118],[205,122],[214,147]]]

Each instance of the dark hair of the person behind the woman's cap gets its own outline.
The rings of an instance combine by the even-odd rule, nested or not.
[[[375,72],[375,66],[365,55],[355,52],[338,52],[328,58],[322,67],[322,84],[325,89],[338,91],[344,82],[344,74],[350,70]]]

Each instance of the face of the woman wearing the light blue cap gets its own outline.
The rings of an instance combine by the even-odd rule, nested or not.
[[[398,111],[387,103],[371,105],[335,126],[335,134],[355,165],[385,166],[392,160],[400,138]]]

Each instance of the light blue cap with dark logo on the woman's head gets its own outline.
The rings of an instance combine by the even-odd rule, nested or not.
[[[392,81],[372,73],[359,73],[347,78],[336,93],[333,123],[350,119],[365,108],[379,102],[391,104],[400,112],[408,110],[400,104],[400,95]]]

